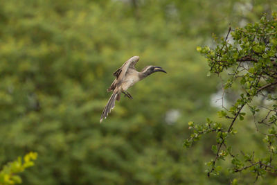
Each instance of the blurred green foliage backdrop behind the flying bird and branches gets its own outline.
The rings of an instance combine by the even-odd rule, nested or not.
[[[206,177],[215,138],[186,150],[188,121],[217,118],[220,80],[207,77],[197,46],[231,25],[277,10],[265,0],[0,1],[0,164],[34,151],[23,184],[229,184],[249,174]],[[163,67],[129,89],[99,124],[112,73]],[[233,143],[262,153],[247,125]],[[243,136],[243,137],[242,137]],[[242,140],[243,139],[243,140]],[[274,183],[268,175],[257,183]]]

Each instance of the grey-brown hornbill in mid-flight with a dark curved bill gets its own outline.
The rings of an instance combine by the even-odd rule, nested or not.
[[[143,78],[149,76],[154,72],[161,71],[166,73],[161,67],[154,67],[154,66],[147,66],[143,68],[141,72],[136,71],[135,65],[136,62],[139,61],[139,56],[134,56],[129,58],[122,67],[120,67],[116,72],[114,72],[114,76],[116,79],[112,82],[111,87],[107,89],[107,91],[114,91],[109,98],[107,105],[105,106],[101,118],[100,123],[102,122],[103,118],[107,118],[108,114],[111,112],[111,109],[114,108],[116,100],[120,100],[120,94],[123,93],[128,98],[132,99],[133,97],[131,94],[127,92],[127,89],[133,86],[136,82],[143,80]]]

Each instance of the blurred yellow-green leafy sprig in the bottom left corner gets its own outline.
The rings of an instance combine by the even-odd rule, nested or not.
[[[16,161],[9,162],[0,171],[0,184],[1,185],[11,185],[11,184],[21,184],[22,179],[19,173],[24,172],[26,168],[34,166],[34,160],[37,159],[36,152],[29,152],[24,156],[22,161],[21,157],[18,157]]]

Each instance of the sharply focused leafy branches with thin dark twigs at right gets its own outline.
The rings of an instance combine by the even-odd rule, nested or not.
[[[231,34],[231,35],[230,35]],[[231,36],[231,39],[229,37]],[[220,118],[229,120],[228,125],[207,120],[204,125],[188,123],[193,134],[186,139],[184,146],[191,146],[202,134],[216,133],[217,144],[212,146],[215,158],[208,162],[208,176],[219,174],[217,162],[229,157],[232,173],[247,170],[256,175],[256,179],[267,173],[277,173],[276,161],[276,126],[277,126],[277,14],[270,19],[262,17],[255,24],[247,24],[244,28],[229,28],[226,37],[222,37],[215,49],[208,46],[197,47],[197,51],[205,55],[211,73],[226,78],[222,84],[224,91],[235,89],[240,97],[228,109],[223,106],[218,112]],[[222,73],[228,73],[228,76]],[[222,98],[223,100],[223,98]],[[265,103],[265,100],[267,101]],[[248,108],[248,110],[247,110]],[[244,112],[242,112],[244,109]],[[246,150],[233,153],[236,146],[229,144],[231,134],[236,134],[235,123],[243,121],[249,114],[253,115],[257,134],[267,146],[263,155]],[[258,115],[257,115],[258,114]],[[257,121],[258,119],[258,121]],[[237,123],[238,124],[238,123]],[[240,130],[238,131],[240,132]]]

